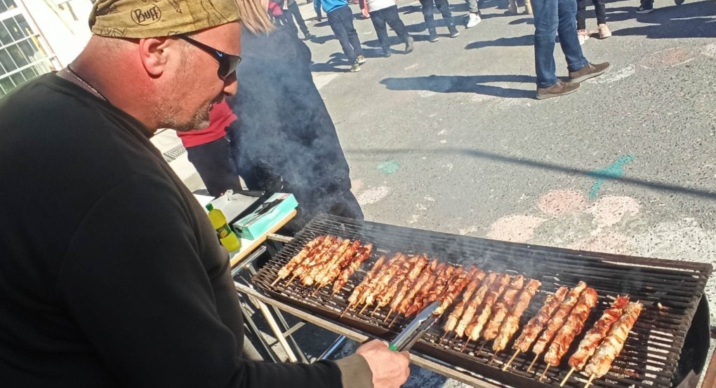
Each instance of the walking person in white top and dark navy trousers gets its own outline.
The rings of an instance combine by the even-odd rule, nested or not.
[[[405,43],[405,54],[412,52],[413,39],[407,33],[405,24],[400,20],[395,0],[365,0],[362,3],[363,16],[369,17],[373,22],[375,33],[378,35],[378,41],[383,49],[383,56],[390,56],[390,41],[388,40],[386,23]]]

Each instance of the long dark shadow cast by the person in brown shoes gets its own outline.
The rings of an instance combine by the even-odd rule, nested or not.
[[[486,85],[489,82],[517,82],[530,84],[530,89],[512,89]],[[533,76],[416,76],[410,78],[386,78],[380,81],[390,90],[428,90],[437,93],[476,93],[512,99],[532,99],[536,82]]]

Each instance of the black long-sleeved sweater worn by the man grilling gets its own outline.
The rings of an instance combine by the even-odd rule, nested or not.
[[[54,74],[0,100],[0,387],[341,387],[241,358],[226,251],[150,136]]]

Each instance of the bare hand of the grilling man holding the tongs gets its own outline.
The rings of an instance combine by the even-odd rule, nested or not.
[[[361,345],[356,353],[368,362],[373,372],[374,388],[399,388],[410,375],[410,354],[393,352],[379,339]]]

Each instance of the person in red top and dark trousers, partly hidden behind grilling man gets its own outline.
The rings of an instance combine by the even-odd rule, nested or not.
[[[209,126],[206,129],[177,131],[189,161],[199,173],[206,191],[213,197],[219,197],[228,189],[241,190],[229,154],[231,125],[235,121],[236,114],[226,100],[222,100],[209,111]]]

